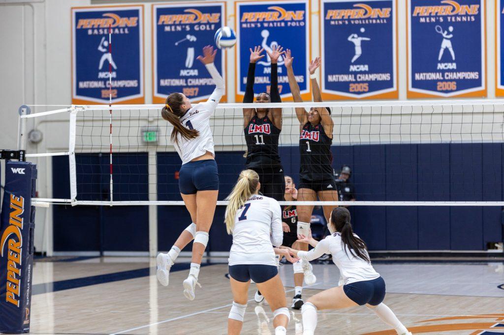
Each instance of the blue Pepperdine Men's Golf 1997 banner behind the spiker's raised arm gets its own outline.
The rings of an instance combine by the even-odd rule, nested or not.
[[[153,5],[152,54],[154,103],[164,104],[173,92],[183,93],[194,102],[208,99],[215,82],[198,55],[214,43],[214,35],[226,19],[224,3]],[[215,67],[224,75],[224,51],[218,50]],[[226,102],[226,96],[221,102]]]

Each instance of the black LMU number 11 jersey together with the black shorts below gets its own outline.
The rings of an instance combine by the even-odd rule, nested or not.
[[[263,195],[283,201],[285,179],[278,155],[280,129],[273,125],[268,116],[259,118],[256,115],[250,119],[243,132],[247,143],[245,167],[258,173],[260,192]]]

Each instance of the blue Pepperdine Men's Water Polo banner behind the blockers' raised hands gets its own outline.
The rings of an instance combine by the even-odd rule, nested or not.
[[[280,45],[291,49],[294,57],[293,69],[299,90],[304,98],[309,98],[308,63],[309,43],[309,5],[306,1],[260,1],[235,3],[236,13],[236,101],[241,102],[250,59],[250,48],[262,46],[266,57],[256,64],[256,84],[254,93],[270,92],[271,60],[266,50]],[[290,97],[287,69],[283,57],[278,58],[278,91],[280,97]],[[291,100],[288,98],[285,100]]]

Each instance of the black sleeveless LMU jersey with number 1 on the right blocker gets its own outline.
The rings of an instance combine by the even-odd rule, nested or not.
[[[332,138],[329,138],[320,124],[312,125],[307,122],[299,135],[299,154],[301,166],[299,177],[308,181],[333,179],[331,163]]]

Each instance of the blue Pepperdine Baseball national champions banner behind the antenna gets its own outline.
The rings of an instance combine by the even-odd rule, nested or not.
[[[73,104],[145,102],[143,24],[141,5],[72,8]]]

